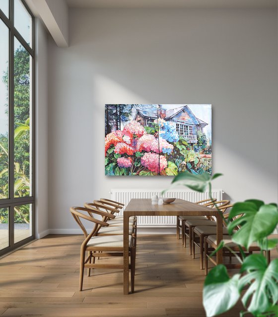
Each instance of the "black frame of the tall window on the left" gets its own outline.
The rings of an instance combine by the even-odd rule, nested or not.
[[[14,26],[14,0],[9,0],[9,17],[7,17],[0,9],[0,19],[9,30],[9,60],[8,60],[8,182],[9,182],[9,198],[0,199],[0,208],[8,208],[8,233],[9,246],[0,250],[0,256],[33,240],[35,238],[35,17],[28,8],[24,0],[20,0],[27,12],[32,18],[32,48],[20,35]],[[31,196],[14,197],[14,38],[26,49],[32,57],[32,92],[30,111],[32,113],[32,122],[30,129],[30,142],[32,146],[30,159],[32,168],[30,169],[30,190]],[[32,137],[31,137],[32,136]],[[32,205],[32,235],[28,238],[14,243],[14,207],[20,205]]]

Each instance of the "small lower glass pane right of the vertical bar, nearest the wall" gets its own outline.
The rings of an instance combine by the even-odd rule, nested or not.
[[[32,236],[32,204],[14,207],[14,243]]]

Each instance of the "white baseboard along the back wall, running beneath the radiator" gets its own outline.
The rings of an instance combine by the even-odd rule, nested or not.
[[[90,232],[91,229],[87,229]],[[175,227],[139,227],[138,234],[142,235],[172,235],[176,233]],[[48,235],[82,235],[81,229],[49,229]]]

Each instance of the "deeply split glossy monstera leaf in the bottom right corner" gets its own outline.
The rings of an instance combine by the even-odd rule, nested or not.
[[[248,311],[257,316],[261,312],[267,312],[278,301],[278,259],[274,259],[268,266],[266,258],[262,254],[252,254],[243,261],[241,272],[248,272],[239,281],[242,289],[250,284],[242,298],[242,303],[247,303],[252,296]]]

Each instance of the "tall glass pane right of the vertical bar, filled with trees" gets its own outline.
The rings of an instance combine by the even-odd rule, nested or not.
[[[14,196],[31,196],[32,58],[14,39]]]

